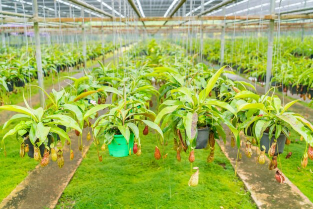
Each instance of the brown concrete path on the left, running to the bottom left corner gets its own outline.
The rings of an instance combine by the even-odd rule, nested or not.
[[[112,58],[113,57],[105,59],[105,62],[110,61]],[[73,76],[76,78],[81,77],[83,76],[83,72],[76,73]],[[64,80],[60,83],[60,85],[65,87],[69,82],[69,80]],[[45,90],[50,92],[52,90],[52,86],[46,88]],[[32,95],[31,99],[33,105],[39,103],[38,94]],[[109,99],[107,100],[107,102],[110,102]],[[18,105],[23,106],[24,103],[20,103]],[[0,112],[0,124],[2,124],[2,122],[4,122],[13,114],[14,112],[9,111]],[[83,153],[86,153],[89,149],[89,146],[92,144],[92,139],[86,141],[87,133],[88,130],[85,128],[82,134],[82,141],[84,145]],[[75,135],[74,131],[69,132],[68,135],[72,142],[71,149],[74,152],[73,160],[69,159],[69,145],[64,145],[64,166],[62,168],[59,168],[56,162],[51,161],[51,158],[49,159],[50,162],[46,167],[41,167],[40,164],[38,164],[35,169],[33,169],[26,176],[26,178],[20,182],[7,197],[2,200],[0,203],[0,208],[36,209],[55,207],[63,190],[79,166],[83,155],[81,151],[79,151],[78,137]]]

